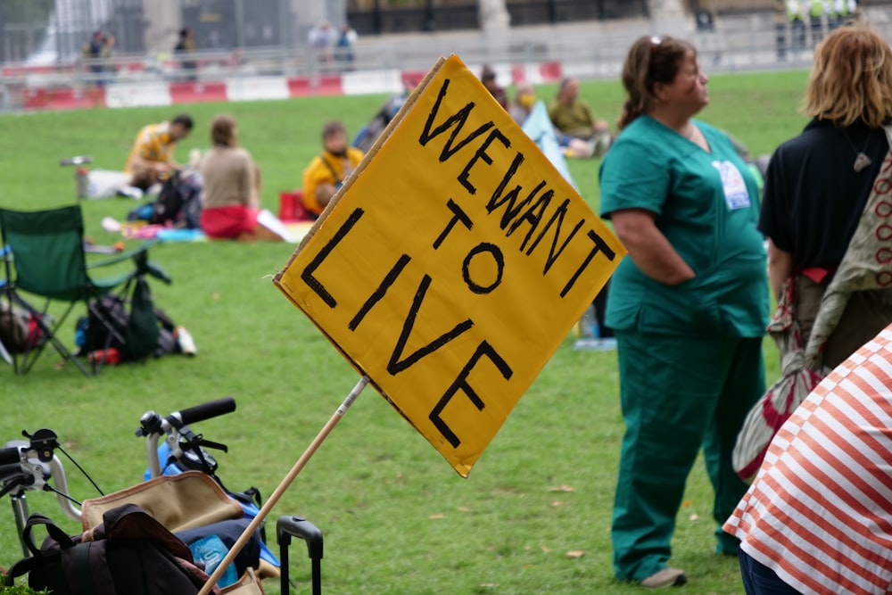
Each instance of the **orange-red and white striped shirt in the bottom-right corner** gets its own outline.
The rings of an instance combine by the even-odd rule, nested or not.
[[[780,428],[723,528],[797,591],[892,592],[892,325]]]

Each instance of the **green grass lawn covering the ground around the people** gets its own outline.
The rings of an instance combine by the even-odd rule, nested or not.
[[[730,131],[752,153],[769,153],[795,136],[805,72],[714,76],[702,120]],[[549,99],[555,86],[542,86]],[[591,82],[582,96],[615,121],[618,82]],[[263,171],[263,203],[277,210],[278,192],[299,186],[319,151],[322,122],[344,120],[349,133],[371,119],[385,97],[326,97],[262,103],[97,109],[0,116],[0,204],[39,209],[75,201],[74,154],[94,166],[121,169],[145,123],[193,115],[193,136],[178,147],[210,144],[220,112],[239,121],[242,144]],[[599,162],[570,163],[582,196],[597,209]],[[124,219],[136,202],[83,202],[87,235],[97,244],[120,239],[100,221]],[[147,409],[167,414],[233,395],[234,414],[195,426],[225,442],[219,454],[227,487],[272,492],[359,377],[310,321],[279,293],[271,277],[285,266],[289,244],[195,243],[153,248],[174,278],[153,283],[157,305],[194,336],[194,359],[169,356],[84,377],[58,368],[45,353],[28,376],[0,367],[0,442],[22,430],[53,429],[105,492],[138,482],[145,449],[135,436]],[[73,343],[73,318],[63,339]],[[765,343],[769,380],[777,353]],[[531,345],[531,349],[535,346]],[[373,389],[359,396],[273,510],[310,518],[325,533],[323,588],[329,593],[632,593],[612,579],[609,526],[619,443],[615,352],[574,351],[568,336],[463,480]],[[97,493],[73,466],[72,494]],[[7,499],[4,499],[7,500]],[[31,492],[31,511],[70,532],[51,494]],[[6,506],[3,504],[3,506]],[[702,464],[690,476],[678,517],[673,566],[687,570],[689,593],[741,593],[737,562],[713,553],[711,489]],[[12,513],[0,515],[0,566],[21,556]],[[275,546],[274,546],[275,547]],[[309,590],[309,560],[293,545],[293,575]],[[278,593],[268,582],[268,593]]]

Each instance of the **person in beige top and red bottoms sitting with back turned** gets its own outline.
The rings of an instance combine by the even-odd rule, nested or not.
[[[213,147],[201,160],[204,192],[201,226],[211,239],[240,242],[290,241],[275,215],[260,210],[260,169],[238,145],[235,118],[224,114],[211,122]]]

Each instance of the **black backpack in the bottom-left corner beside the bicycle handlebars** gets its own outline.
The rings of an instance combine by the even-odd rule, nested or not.
[[[39,549],[31,535],[37,525],[48,533]],[[111,508],[102,525],[72,536],[34,514],[22,536],[32,556],[12,565],[8,587],[27,573],[29,587],[54,595],[193,595],[208,580],[186,543],[136,504]]]

